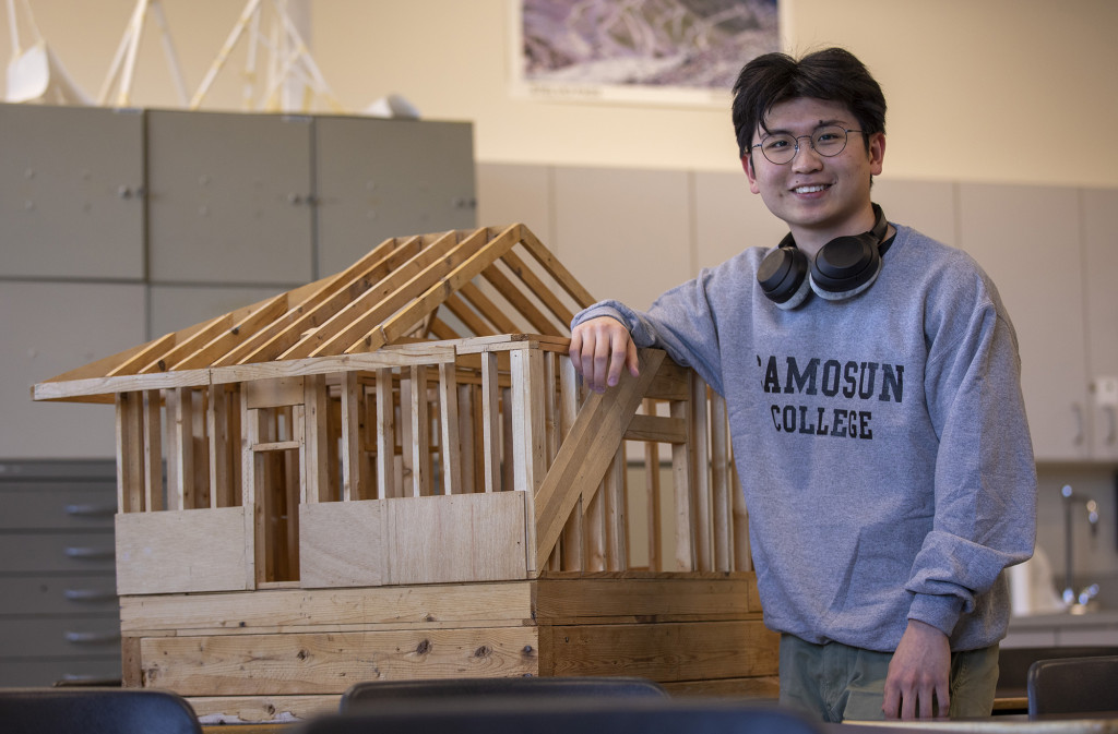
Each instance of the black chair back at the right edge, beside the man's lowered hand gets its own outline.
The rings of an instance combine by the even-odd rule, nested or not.
[[[1038,660],[1026,687],[1030,718],[1118,711],[1118,656]]]

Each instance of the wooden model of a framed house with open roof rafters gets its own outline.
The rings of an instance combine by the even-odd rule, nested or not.
[[[124,685],[224,721],[376,678],[774,696],[724,403],[655,350],[585,394],[591,301],[521,225],[394,238],[35,385],[116,406]]]

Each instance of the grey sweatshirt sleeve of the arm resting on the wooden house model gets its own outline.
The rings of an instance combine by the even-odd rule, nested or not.
[[[693,368],[717,392],[722,392],[718,323],[710,306],[708,288],[713,271],[665,292],[647,312],[629,308],[618,301],[603,301],[575,315],[578,324],[609,316],[625,324],[638,347],[662,349],[680,365]]]

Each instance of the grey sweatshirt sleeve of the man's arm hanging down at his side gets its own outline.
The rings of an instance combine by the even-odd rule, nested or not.
[[[948,636],[1004,568],[1032,555],[1036,531],[1036,474],[1016,336],[996,293],[979,293],[969,314],[948,309],[932,325],[939,333],[929,333],[925,375],[940,439],[936,515],[907,585],[915,594],[909,619]]]

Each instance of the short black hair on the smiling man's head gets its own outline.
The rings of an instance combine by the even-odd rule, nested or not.
[[[837,102],[854,115],[869,146],[870,135],[885,132],[885,96],[870,70],[843,48],[825,48],[795,59],[765,54],[741,68],[733,85],[733,134],[739,155],[750,151],[754,132],[768,131],[773,107],[797,97]]]

